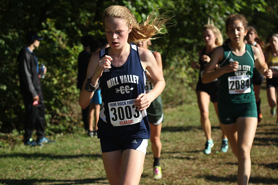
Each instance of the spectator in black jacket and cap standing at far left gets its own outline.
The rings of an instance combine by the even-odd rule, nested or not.
[[[42,94],[39,66],[33,50],[40,45],[35,32],[26,35],[27,47],[23,47],[18,55],[20,90],[25,105],[25,135],[24,144],[28,146],[43,145],[50,141],[44,137],[44,98]],[[33,130],[37,131],[37,140],[33,140]]]

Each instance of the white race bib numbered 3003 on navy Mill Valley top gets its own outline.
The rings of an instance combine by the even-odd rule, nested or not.
[[[141,111],[137,110],[134,100],[108,103],[110,121],[113,126],[133,125],[142,120]]]

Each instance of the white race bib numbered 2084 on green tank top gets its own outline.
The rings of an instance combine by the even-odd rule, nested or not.
[[[229,76],[228,82],[230,94],[243,94],[251,92],[250,75]]]

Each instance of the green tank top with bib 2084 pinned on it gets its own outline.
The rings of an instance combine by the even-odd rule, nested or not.
[[[223,60],[219,62],[220,67],[230,62],[238,61],[239,68],[235,72],[225,73],[219,77],[220,87],[218,102],[223,103],[250,103],[255,101],[253,91],[253,67],[254,53],[252,46],[246,44],[246,52],[242,56],[235,55],[228,44],[224,48]]]

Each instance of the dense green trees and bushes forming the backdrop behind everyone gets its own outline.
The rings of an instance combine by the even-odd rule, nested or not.
[[[65,133],[82,127],[79,90],[76,88],[77,57],[82,51],[81,37],[104,35],[102,12],[112,4],[127,6],[142,22],[153,10],[166,12],[171,19],[167,34],[158,35],[153,50],[162,54],[165,91],[164,105],[175,106],[193,100],[187,95],[195,89],[198,71],[190,66],[198,61],[204,47],[201,29],[213,20],[225,36],[225,18],[231,13],[244,14],[258,35],[277,32],[276,0],[111,0],[0,1],[0,132],[23,130],[23,98],[19,92],[17,54],[24,46],[27,31],[45,38],[35,50],[39,63],[47,67],[41,80],[46,105],[46,133]],[[170,24],[170,25],[171,25]],[[168,26],[170,26],[168,25]]]

